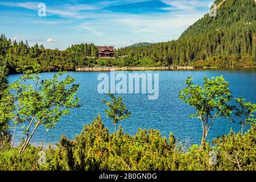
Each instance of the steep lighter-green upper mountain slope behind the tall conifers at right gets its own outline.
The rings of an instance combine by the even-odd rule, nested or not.
[[[208,14],[198,20],[181,34],[181,38],[196,36],[203,32],[218,29],[241,26],[242,24],[255,22],[256,0],[225,0],[216,1],[217,16],[210,17]]]

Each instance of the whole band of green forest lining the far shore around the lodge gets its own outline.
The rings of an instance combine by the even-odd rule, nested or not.
[[[115,50],[116,59],[98,59],[98,47],[81,43],[60,51],[0,37],[0,61],[9,71],[40,64],[41,72],[74,70],[77,67],[254,67],[256,65],[256,2],[216,1],[217,16],[206,14],[177,40],[138,44]]]

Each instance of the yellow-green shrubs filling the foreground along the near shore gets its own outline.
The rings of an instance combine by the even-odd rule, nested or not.
[[[199,146],[177,143],[173,134],[162,137],[156,130],[138,130],[134,136],[124,134],[121,127],[117,135],[104,127],[100,115],[85,125],[80,135],[69,140],[61,137],[55,148],[29,146],[22,155],[19,148],[0,152],[0,170],[255,170],[256,127],[242,135],[233,131]],[[180,148],[183,148],[182,150]],[[39,152],[46,152],[46,164],[39,164]],[[209,163],[210,152],[216,151],[217,164]],[[240,163],[234,163],[236,156]]]

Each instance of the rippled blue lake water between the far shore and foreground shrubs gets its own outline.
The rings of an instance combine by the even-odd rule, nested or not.
[[[109,72],[105,72],[110,75]],[[203,77],[221,76],[230,83],[230,90],[234,97],[243,97],[246,101],[256,103],[256,69],[240,70],[197,70],[197,71],[141,71],[141,72],[116,72],[116,73],[159,73],[159,98],[148,100],[148,94],[123,94],[123,101],[132,113],[132,116],[122,122],[125,133],[133,135],[138,128],[160,130],[163,136],[168,138],[170,132],[176,138],[185,140],[189,138],[192,144],[199,144],[201,140],[201,123],[199,119],[191,119],[189,115],[195,112],[191,106],[184,104],[179,99],[179,92],[185,87],[187,77],[193,77],[197,84],[203,83]],[[51,78],[55,73],[42,73],[42,79]],[[100,81],[97,80],[100,72],[68,72],[76,78],[80,84],[77,96],[82,106],[78,109],[71,109],[71,114],[64,115],[57,126],[49,131],[39,127],[31,140],[32,144],[54,144],[58,142],[61,135],[72,139],[80,134],[82,126],[90,123],[100,113],[105,127],[111,133],[114,126],[105,114],[105,105],[102,98],[108,98],[105,94],[97,92]],[[17,80],[20,75],[10,75],[9,81]],[[230,123],[224,119],[218,120],[209,132],[208,140],[218,135],[227,134],[232,128],[240,131],[239,123]],[[19,143],[22,134],[17,134],[15,143]]]

